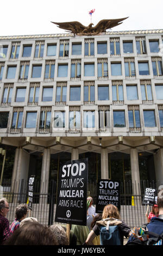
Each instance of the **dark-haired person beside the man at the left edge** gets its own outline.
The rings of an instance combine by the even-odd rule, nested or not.
[[[10,225],[11,234],[20,226],[20,222],[27,217],[27,214],[28,214],[28,208],[26,204],[24,205],[20,204],[16,207],[15,221],[13,221],[12,224]]]

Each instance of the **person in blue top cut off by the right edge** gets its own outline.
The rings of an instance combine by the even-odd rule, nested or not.
[[[153,217],[149,224],[147,224],[148,231],[152,231],[158,235],[163,233],[163,188],[158,193],[157,204],[159,209],[159,216]]]

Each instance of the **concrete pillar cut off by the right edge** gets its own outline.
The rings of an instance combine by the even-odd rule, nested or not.
[[[157,188],[163,184],[163,148],[159,149],[154,155],[155,176]]]

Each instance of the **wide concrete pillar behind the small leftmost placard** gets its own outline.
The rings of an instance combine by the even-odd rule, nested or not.
[[[15,152],[14,167],[12,171],[11,191],[18,192],[25,188],[29,170],[30,155],[22,148],[17,148]],[[24,186],[24,187],[23,187]]]

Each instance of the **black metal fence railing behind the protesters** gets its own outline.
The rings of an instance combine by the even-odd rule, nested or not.
[[[93,197],[93,204],[96,206],[96,181],[89,181],[87,184],[87,195]],[[49,187],[47,193],[40,192],[40,181],[35,181],[34,197],[33,197],[33,210],[28,212],[28,216],[37,218],[37,220],[44,224],[49,225],[54,223],[56,198],[57,198],[57,185],[56,181],[44,182],[43,187]],[[155,181],[141,180],[139,184],[139,191],[133,194],[134,184],[131,181],[121,182],[121,219],[126,222],[129,227],[140,226],[147,222],[145,214],[147,210],[146,205],[142,205],[143,193],[146,187],[156,188]],[[2,191],[3,189],[3,191]],[[11,187],[9,184],[4,184],[0,190],[0,197],[5,197],[9,202],[8,220],[11,223],[15,218],[15,208],[18,204],[28,203],[28,182],[20,180],[15,182]],[[149,210],[150,206],[149,206]]]

